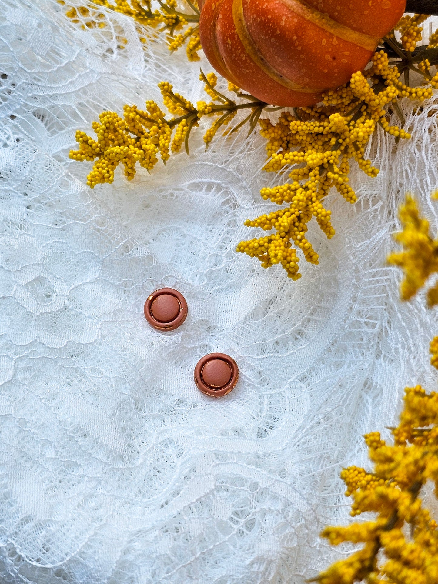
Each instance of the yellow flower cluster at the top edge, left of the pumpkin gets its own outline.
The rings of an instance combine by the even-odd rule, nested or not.
[[[65,0],[58,1],[65,5]],[[69,9],[66,15],[82,28],[103,28],[106,26],[105,14],[96,9],[102,6],[135,20],[140,25],[137,32],[142,43],[146,39],[141,27],[159,27],[158,32],[166,33],[169,51],[173,52],[186,44],[189,61],[199,61],[199,10],[196,3],[192,4],[190,0],[182,0],[182,4],[185,6],[184,12],[179,11],[176,0],[89,0],[86,6]],[[179,34],[175,35],[175,32]],[[124,39],[124,44],[126,43],[127,40]],[[124,48],[124,44],[120,44],[120,48]]]

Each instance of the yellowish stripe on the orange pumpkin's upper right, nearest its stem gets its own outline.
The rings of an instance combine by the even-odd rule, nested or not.
[[[301,18],[309,20],[339,39],[346,40],[367,51],[374,52],[378,41],[380,41],[380,37],[373,37],[369,34],[361,33],[359,30],[351,29],[348,26],[342,25],[340,22],[336,22],[328,14],[319,12],[316,8],[309,6],[304,0],[279,0],[279,2],[297,16],[301,16]]]

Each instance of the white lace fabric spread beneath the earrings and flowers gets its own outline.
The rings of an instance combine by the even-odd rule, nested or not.
[[[436,388],[436,311],[401,304],[385,264],[406,191],[438,225],[436,105],[403,104],[397,148],[377,133],[380,174],[353,172],[354,206],[330,196],[336,236],[311,223],[320,264],[294,283],[235,253],[281,180],[258,136],[204,152],[197,131],[190,158],[86,187],[77,128],[160,102],[159,81],[194,102],[202,84],[130,19],[82,30],[66,9],[0,6],[0,580],[302,584],[345,553],[318,534],[349,521],[339,472],[366,464],[361,435],[388,435],[405,385]],[[164,286],[189,305],[168,333],[142,314]],[[240,379],[215,400],[193,369],[217,351]]]

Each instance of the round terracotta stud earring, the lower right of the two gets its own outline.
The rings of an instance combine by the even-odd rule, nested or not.
[[[210,353],[194,369],[194,382],[206,395],[222,397],[232,391],[239,378],[237,363],[224,353]]]

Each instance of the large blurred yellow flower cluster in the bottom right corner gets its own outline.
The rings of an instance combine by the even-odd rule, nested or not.
[[[431,351],[432,346],[436,356],[438,338]],[[365,436],[373,472],[353,466],[341,473],[346,496],[353,496],[351,515],[371,512],[374,520],[322,532],[332,545],[348,541],[362,544],[361,549],[310,582],[438,582],[437,524],[420,498],[428,481],[438,496],[438,393],[426,394],[419,385],[406,388],[399,425],[391,432],[392,445],[378,432]]]

